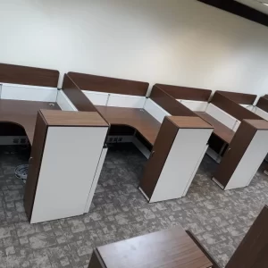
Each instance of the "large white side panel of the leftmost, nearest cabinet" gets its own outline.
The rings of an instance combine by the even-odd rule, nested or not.
[[[30,223],[84,214],[106,127],[49,127]]]

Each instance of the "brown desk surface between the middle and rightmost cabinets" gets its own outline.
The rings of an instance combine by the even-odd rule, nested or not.
[[[205,112],[195,112],[198,116],[203,118],[205,121],[209,122],[214,127],[214,134],[218,136],[219,138],[222,138],[223,141],[230,144],[231,139],[233,138],[235,132],[233,130],[230,130],[225,125],[223,125],[220,121],[217,121]]]

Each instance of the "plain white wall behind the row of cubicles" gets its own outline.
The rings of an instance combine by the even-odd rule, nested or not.
[[[268,93],[268,28],[196,0],[9,0],[0,61]]]

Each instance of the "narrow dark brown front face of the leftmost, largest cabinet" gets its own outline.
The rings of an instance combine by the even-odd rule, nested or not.
[[[24,208],[29,221],[38,186],[38,176],[45,147],[46,132],[46,121],[43,116],[38,113],[34,139],[31,147],[31,155],[29,158],[28,178],[26,180],[24,193]]]

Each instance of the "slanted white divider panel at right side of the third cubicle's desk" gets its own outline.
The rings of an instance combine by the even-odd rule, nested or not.
[[[227,128],[232,130],[238,121],[236,118],[232,117],[229,113],[222,111],[222,109],[218,108],[213,104],[209,104],[205,110],[205,113],[210,114],[217,121],[222,122]]]

